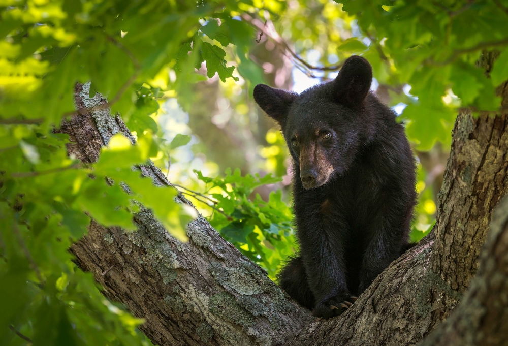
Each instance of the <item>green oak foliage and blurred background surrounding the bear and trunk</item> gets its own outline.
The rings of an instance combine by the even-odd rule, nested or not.
[[[457,109],[499,107],[506,19],[506,0],[0,0],[0,344],[150,344],[67,251],[90,217],[135,229],[139,203],[185,241],[176,191],[131,170],[147,160],[274,278],[298,250],[291,165],[252,88],[301,92],[352,54],[405,123],[420,240]],[[95,164],[67,156],[68,136],[53,131],[87,82],[133,134],[109,139]]]

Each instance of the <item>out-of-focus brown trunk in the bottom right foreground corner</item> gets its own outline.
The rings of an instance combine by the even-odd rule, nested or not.
[[[446,322],[422,346],[508,344],[508,198],[490,224],[480,268],[469,290]]]

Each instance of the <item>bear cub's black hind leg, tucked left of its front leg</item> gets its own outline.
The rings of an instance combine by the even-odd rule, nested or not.
[[[277,281],[279,286],[300,305],[309,310],[314,308],[314,294],[307,282],[307,274],[301,256],[290,258],[290,261],[277,275]]]

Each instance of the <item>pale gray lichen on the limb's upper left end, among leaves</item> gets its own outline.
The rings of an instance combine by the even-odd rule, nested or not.
[[[100,93],[96,93],[90,99],[90,82],[83,84],[83,87],[79,93],[83,104],[87,108],[97,107],[104,103],[106,100]],[[118,126],[117,121],[110,114],[110,109],[99,109],[91,112],[92,117],[96,121],[97,130],[101,134],[101,137],[106,145],[108,145],[111,137],[117,133],[122,133],[125,137],[128,137],[131,140],[131,143],[136,143],[135,138],[128,131],[122,131],[122,129]]]

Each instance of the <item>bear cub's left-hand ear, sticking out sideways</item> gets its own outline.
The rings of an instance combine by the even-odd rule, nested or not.
[[[254,88],[256,103],[282,128],[284,128],[285,121],[288,119],[289,107],[297,96],[295,92],[275,89],[265,84],[258,84]]]

